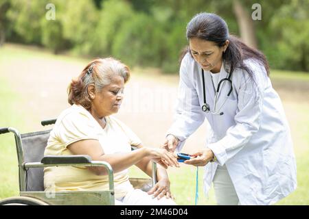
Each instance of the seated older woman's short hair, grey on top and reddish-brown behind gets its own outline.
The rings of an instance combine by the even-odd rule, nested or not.
[[[90,110],[91,99],[88,86],[92,83],[95,86],[95,92],[100,92],[104,86],[111,83],[111,79],[115,75],[123,77],[124,83],[126,83],[130,79],[130,69],[113,57],[89,62],[78,78],[72,79],[69,84],[69,104],[82,105],[86,110]]]

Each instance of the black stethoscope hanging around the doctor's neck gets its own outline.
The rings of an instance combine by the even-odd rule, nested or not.
[[[214,97],[214,110],[210,110],[210,106],[206,101],[206,91],[205,91],[205,78],[204,78],[204,70],[202,68],[202,77],[203,77],[203,94],[204,94],[204,104],[202,105],[202,110],[203,112],[211,113],[211,114],[216,114],[222,116],[224,113],[220,112],[222,107],[225,105],[225,102],[229,98],[229,95],[231,94],[233,90],[232,82],[231,82],[231,73],[229,73],[229,77],[225,77],[224,79],[221,79],[220,82],[218,83],[217,89],[214,87],[214,81],[212,81],[212,86],[214,87],[214,92],[215,92],[215,97]],[[223,81],[228,81],[230,83],[231,88],[229,88],[229,93],[227,94],[227,97],[225,98],[225,101],[222,103],[221,107],[216,110],[216,106],[218,103],[218,96],[219,96],[219,91],[220,91],[220,86]]]

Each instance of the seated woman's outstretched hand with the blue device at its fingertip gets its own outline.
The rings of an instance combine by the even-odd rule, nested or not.
[[[177,162],[177,156],[173,153],[168,152],[165,149],[157,149],[157,148],[147,148],[148,153],[147,157],[154,162],[160,164],[165,169],[168,166],[176,166],[179,167],[179,163]]]

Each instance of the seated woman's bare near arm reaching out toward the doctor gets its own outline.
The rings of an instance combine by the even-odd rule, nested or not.
[[[119,172],[137,164],[144,157],[155,159],[159,162],[164,161],[167,166],[174,166],[176,157],[164,149],[152,150],[150,148],[141,148],[128,153],[115,153],[111,155],[104,154],[102,146],[98,140],[80,140],[68,146],[71,153],[75,155],[89,155],[95,161],[104,161],[111,164],[114,172]],[[104,167],[88,167],[95,175],[107,175]]]

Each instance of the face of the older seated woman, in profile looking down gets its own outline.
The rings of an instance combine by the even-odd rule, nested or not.
[[[119,75],[113,76],[111,83],[95,92],[92,97],[91,111],[98,118],[117,113],[124,98],[124,78]]]

